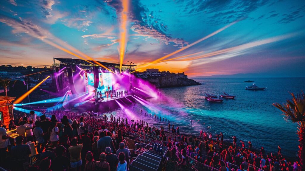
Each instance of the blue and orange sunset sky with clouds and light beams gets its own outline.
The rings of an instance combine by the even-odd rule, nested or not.
[[[305,77],[304,0],[2,0],[0,30],[5,65],[121,56],[189,77]]]

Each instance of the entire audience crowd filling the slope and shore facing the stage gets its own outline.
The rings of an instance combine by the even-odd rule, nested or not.
[[[123,137],[127,132],[144,135],[138,141],[162,143],[169,151],[168,157],[177,161],[179,167],[189,166],[189,161],[194,159],[220,171],[298,169],[297,162],[288,162],[283,157],[279,146],[277,154],[268,154],[263,147],[253,149],[250,141],[247,147],[243,141],[237,143],[236,137],[232,137],[232,143],[224,142],[222,133],[212,136],[201,130],[199,137],[186,136],[170,121],[166,131],[163,125],[157,128],[144,120],[113,115],[81,117],[64,111],[40,117],[33,111],[30,115],[21,112],[15,115],[16,120],[8,126],[8,130],[16,129],[19,134],[15,139],[0,128],[0,166],[11,170],[127,171],[133,155]],[[145,116],[151,114],[145,113]],[[39,155],[33,159],[34,164],[29,163],[29,155],[36,154]]]

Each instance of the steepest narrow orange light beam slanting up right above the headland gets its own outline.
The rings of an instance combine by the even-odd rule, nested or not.
[[[207,36],[205,36],[205,37],[203,37],[203,38],[201,38],[201,39],[199,39],[199,40],[197,40],[197,41],[191,43],[190,45],[187,45],[187,46],[185,46],[184,48],[178,49],[177,51],[172,52],[172,53],[170,53],[170,54],[168,54],[168,55],[165,55],[165,56],[163,56],[163,57],[161,57],[161,58],[159,58],[159,59],[156,59],[156,60],[154,60],[154,61],[152,61],[152,62],[150,62],[150,63],[148,63],[148,64],[146,64],[146,65],[154,64],[154,63],[159,62],[159,61],[161,61],[161,60],[163,60],[163,59],[166,59],[166,58],[168,58],[168,57],[170,57],[170,56],[172,56],[172,55],[175,55],[175,54],[177,54],[177,53],[179,53],[179,52],[181,52],[181,51],[183,51],[183,50],[185,50],[185,49],[187,49],[187,48],[189,48],[189,47],[192,47],[193,45],[196,45],[197,43],[199,43],[199,42],[201,42],[201,41],[204,41],[204,40],[206,40],[207,38],[210,38],[210,37],[214,36],[215,34],[217,34],[217,33],[221,32],[221,31],[225,30],[226,28],[232,26],[233,24],[235,24],[235,23],[237,23],[237,22],[238,22],[238,21],[234,21],[233,23],[230,23],[230,24],[228,24],[228,25],[222,27],[221,29],[218,29],[218,30],[214,31],[213,33],[211,33],[211,34],[209,34],[209,35],[207,35]]]

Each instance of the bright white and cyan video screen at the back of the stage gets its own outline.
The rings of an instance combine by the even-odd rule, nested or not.
[[[88,86],[94,87],[94,74],[87,73],[88,76]],[[104,93],[105,91],[112,90],[112,80],[111,73],[99,73],[99,87],[98,91]]]

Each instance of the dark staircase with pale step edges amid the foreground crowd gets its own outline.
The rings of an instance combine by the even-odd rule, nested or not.
[[[159,169],[162,156],[155,152],[144,151],[142,155],[132,161],[130,171],[156,171]]]

